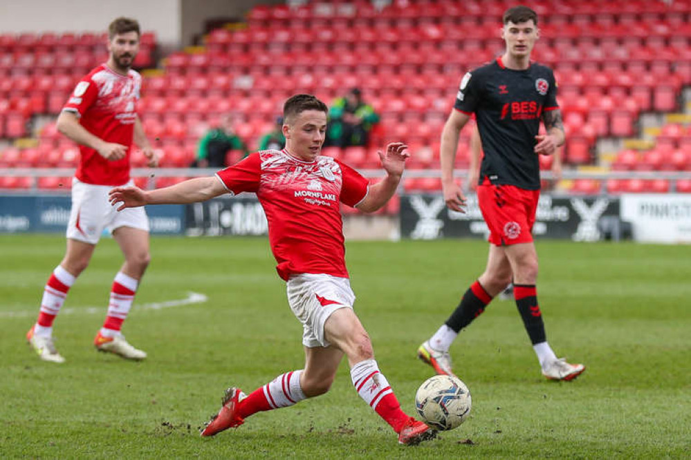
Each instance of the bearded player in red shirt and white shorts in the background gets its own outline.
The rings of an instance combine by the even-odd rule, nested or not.
[[[67,251],[48,279],[41,311],[26,338],[44,361],[63,363],[53,343],[53,320],[70,287],[89,265],[104,229],[118,242],[125,263],[116,274],[103,327],[94,345],[104,352],[141,360],[147,354],[132,347],[120,332],[134,294],[149,265],[149,222],[143,208],[118,213],[108,202],[113,186],[131,184],[132,142],[158,161],[137,115],[141,76],[131,70],[139,50],[137,21],[115,19],[109,26],[109,59],[75,86],[57,118],[58,130],[80,144],[80,161],[72,185],[72,211],[67,226]]]

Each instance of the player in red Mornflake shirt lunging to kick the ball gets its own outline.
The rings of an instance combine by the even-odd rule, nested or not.
[[[312,95],[295,95],[284,105],[286,148],[252,153],[219,171],[165,189],[117,187],[111,202],[118,209],[144,204],[192,203],[215,196],[257,193],[268,220],[269,241],[279,276],[287,282],[288,303],[304,327],[305,367],[286,372],[249,395],[239,388],[225,393],[219,413],[202,436],[235,428],[250,415],[285,408],[324,394],[347,356],[358,394],[398,433],[416,444],[435,432],[407,416],[374,360],[369,336],[353,312],[355,295],[345,266],[339,202],[373,212],[396,191],[408,157],[398,142],[380,153],[387,175],[377,184],[349,166],[320,155],[326,131],[326,105]]]

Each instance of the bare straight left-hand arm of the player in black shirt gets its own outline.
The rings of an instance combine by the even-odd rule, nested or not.
[[[463,196],[461,187],[454,180],[454,163],[456,162],[459,133],[461,133],[463,126],[466,126],[469,119],[470,115],[453,110],[441,132],[439,160],[441,162],[441,186],[444,193],[444,202],[449,209],[459,213],[466,212],[463,209],[466,206],[466,197]]]

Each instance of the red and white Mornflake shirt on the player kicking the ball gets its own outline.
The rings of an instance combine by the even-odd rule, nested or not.
[[[255,192],[268,221],[278,274],[348,277],[339,202],[354,207],[367,179],[331,157],[304,162],[286,150],[252,153],[216,176],[233,195]]]

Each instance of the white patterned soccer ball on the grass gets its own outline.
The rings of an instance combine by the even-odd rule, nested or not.
[[[453,430],[470,414],[470,392],[458,377],[427,378],[415,394],[415,408],[423,421],[436,430]]]

